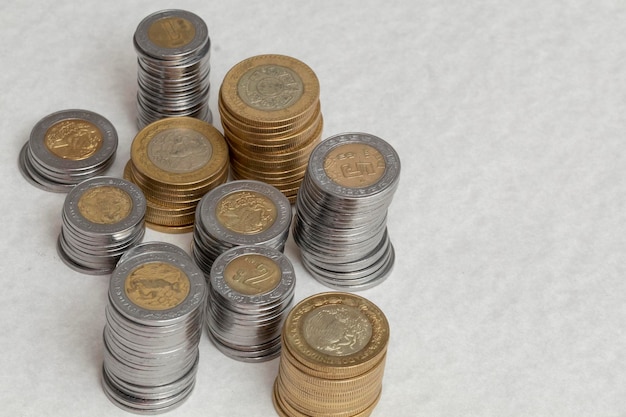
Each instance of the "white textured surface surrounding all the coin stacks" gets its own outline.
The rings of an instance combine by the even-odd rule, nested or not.
[[[107,276],[55,251],[65,195],[20,175],[57,110],[136,134],[132,37],[187,9],[212,40],[210,105],[253,55],[308,64],[324,137],[363,131],[402,160],[391,277],[360,294],[391,324],[375,416],[626,415],[626,4],[615,1],[81,1],[0,5],[0,415],[123,416],[100,386]],[[190,234],[148,231],[187,249]],[[290,239],[296,299],[326,291]],[[171,416],[272,416],[278,360],[203,337]]]

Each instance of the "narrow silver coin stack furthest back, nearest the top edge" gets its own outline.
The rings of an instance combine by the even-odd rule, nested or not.
[[[137,125],[176,116],[209,123],[211,41],[206,23],[185,10],[162,10],[143,19],[137,51]]]

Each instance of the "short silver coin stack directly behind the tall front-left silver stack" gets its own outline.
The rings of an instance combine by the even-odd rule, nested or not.
[[[144,235],[146,199],[120,178],[95,177],[67,194],[57,252],[69,267],[109,274],[120,257]]]

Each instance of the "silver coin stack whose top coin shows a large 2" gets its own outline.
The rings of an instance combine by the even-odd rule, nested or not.
[[[295,273],[282,252],[237,246],[213,263],[206,322],[226,356],[261,362],[280,354],[280,332],[293,304]]]

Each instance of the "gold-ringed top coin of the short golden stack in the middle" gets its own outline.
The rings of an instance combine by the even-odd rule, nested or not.
[[[191,185],[211,178],[228,163],[228,146],[209,123],[172,117],[149,124],[135,136],[131,160],[138,172],[154,181]]]

